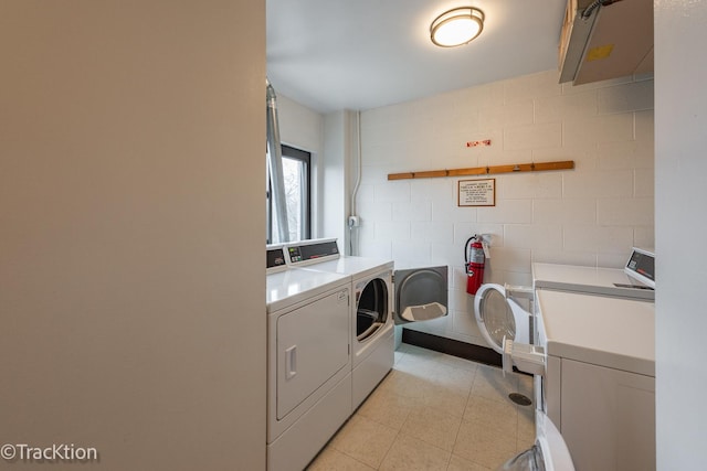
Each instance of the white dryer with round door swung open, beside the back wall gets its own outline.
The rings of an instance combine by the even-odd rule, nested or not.
[[[392,260],[341,256],[335,238],[287,245],[286,255],[293,267],[351,279],[354,409],[393,366],[393,327],[447,313],[446,266],[394,271]]]

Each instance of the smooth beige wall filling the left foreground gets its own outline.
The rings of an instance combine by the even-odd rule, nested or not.
[[[0,445],[265,469],[264,51],[262,0],[2,3]]]

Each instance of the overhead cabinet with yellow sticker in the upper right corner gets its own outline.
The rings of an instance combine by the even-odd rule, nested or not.
[[[582,85],[653,72],[653,0],[597,3],[568,0],[560,83]]]

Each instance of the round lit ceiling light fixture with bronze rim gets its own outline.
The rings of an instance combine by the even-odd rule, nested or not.
[[[472,42],[484,29],[484,12],[474,7],[445,11],[430,25],[430,39],[441,47],[461,46]]]

